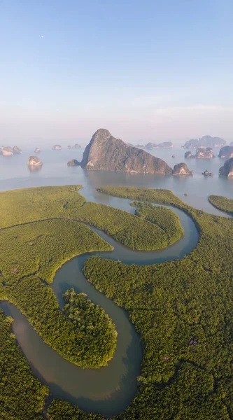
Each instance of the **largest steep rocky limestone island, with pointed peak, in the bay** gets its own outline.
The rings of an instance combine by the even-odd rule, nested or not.
[[[172,174],[172,169],[164,160],[155,158],[136,147],[128,146],[104,129],[94,133],[79,165],[86,169],[135,174]]]

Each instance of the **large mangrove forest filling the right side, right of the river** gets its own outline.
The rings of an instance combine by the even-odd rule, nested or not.
[[[121,188],[122,193],[124,189]],[[140,192],[126,196],[139,200]],[[151,195],[151,190],[148,191]],[[177,205],[199,228],[190,255],[136,266],[93,257],[85,276],[129,311],[143,344],[139,391],[116,420],[230,420],[233,418],[233,221],[186,206],[171,193],[153,201]],[[141,193],[146,200],[147,191]],[[171,198],[171,200],[170,200]],[[80,417],[57,402],[57,419]],[[57,406],[58,407],[58,406]],[[62,416],[60,414],[62,413]]]

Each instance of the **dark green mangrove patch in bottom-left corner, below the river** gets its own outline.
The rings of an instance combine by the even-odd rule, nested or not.
[[[32,374],[11,332],[11,321],[0,309],[0,418],[43,420],[49,391]]]

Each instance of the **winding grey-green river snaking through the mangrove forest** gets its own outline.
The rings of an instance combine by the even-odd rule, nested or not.
[[[95,200],[98,201],[98,200]],[[129,200],[116,199],[113,207],[134,212]],[[115,204],[115,206],[114,206]],[[121,412],[136,394],[136,377],[140,374],[142,358],[139,335],[129,321],[127,311],[118,307],[112,300],[89,283],[83,276],[83,264],[90,255],[120,260],[125,264],[149,265],[155,262],[183,258],[197,245],[198,233],[192,219],[183,211],[174,209],[181,219],[185,235],[180,241],[163,251],[132,251],[116,242],[103,232],[92,228],[103,239],[114,246],[114,251],[94,252],[80,255],[66,262],[57,271],[52,289],[62,307],[62,293],[68,288],[87,293],[87,296],[99,304],[111,316],[118,331],[118,344],[113,360],[101,369],[81,369],[64,360],[53,351],[28,323],[20,311],[8,302],[2,302],[1,308],[13,316],[13,332],[17,342],[31,365],[31,370],[38,379],[50,387],[52,398],[60,397],[72,402],[87,412],[100,412],[104,416],[113,416]]]

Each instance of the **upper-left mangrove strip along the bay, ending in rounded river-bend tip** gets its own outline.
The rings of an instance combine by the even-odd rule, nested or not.
[[[143,218],[113,207],[93,202],[85,204],[85,197],[78,192],[80,188],[41,187],[0,193],[0,229],[32,221],[66,218],[104,230],[129,248],[149,251],[169,244],[159,225],[151,225]]]

